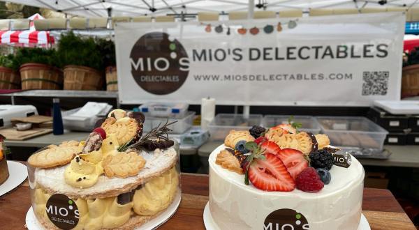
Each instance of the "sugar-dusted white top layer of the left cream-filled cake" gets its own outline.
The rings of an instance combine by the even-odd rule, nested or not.
[[[150,176],[159,176],[162,169],[170,167],[177,160],[177,153],[175,148],[167,148],[164,150],[154,151],[154,153],[147,153],[142,151],[140,153],[145,158],[145,167],[140,170],[136,176],[128,176],[127,178],[108,178],[105,175],[101,175],[98,178],[98,182],[87,188],[76,188],[71,187],[64,182],[64,171],[69,164],[61,167],[55,167],[52,169],[41,169],[35,170],[35,181],[42,187],[49,190],[54,190],[57,193],[64,194],[78,194],[78,197],[87,197],[89,194],[96,192],[110,192],[112,190],[120,189],[124,185],[130,183],[136,183],[142,181],[145,183]],[[31,187],[35,187],[31,182]]]

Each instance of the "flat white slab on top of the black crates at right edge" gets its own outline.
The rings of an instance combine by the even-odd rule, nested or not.
[[[419,114],[419,100],[374,100],[374,105],[390,114]]]

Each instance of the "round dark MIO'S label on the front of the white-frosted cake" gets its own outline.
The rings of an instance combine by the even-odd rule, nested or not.
[[[305,230],[309,222],[301,213],[289,208],[274,210],[267,215],[263,230]]]

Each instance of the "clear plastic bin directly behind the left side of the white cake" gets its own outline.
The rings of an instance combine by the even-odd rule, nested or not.
[[[208,125],[211,140],[223,140],[230,130],[249,130],[253,125],[262,123],[262,114],[251,114],[244,118],[242,114],[217,114]]]

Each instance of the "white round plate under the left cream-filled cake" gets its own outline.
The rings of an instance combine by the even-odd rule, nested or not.
[[[181,199],[181,192],[177,192],[175,199],[168,208],[161,213],[158,217],[150,220],[149,222],[142,224],[141,227],[136,228],[135,230],[152,230],[157,229],[161,224],[164,224],[166,221],[176,213],[177,208],[179,207]],[[29,208],[26,216],[27,229],[29,230],[43,230],[43,226],[36,220],[34,210]]]

